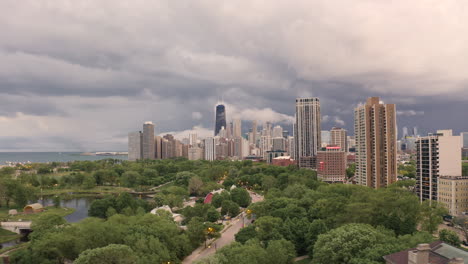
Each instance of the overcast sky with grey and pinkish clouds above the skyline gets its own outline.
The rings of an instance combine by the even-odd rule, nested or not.
[[[0,151],[126,150],[228,118],[288,125],[319,97],[353,128],[369,96],[398,125],[468,131],[468,2],[1,0]]]

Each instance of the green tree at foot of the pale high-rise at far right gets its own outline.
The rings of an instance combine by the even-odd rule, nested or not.
[[[421,229],[434,234],[442,224],[443,216],[448,214],[448,210],[436,201],[424,201],[421,206]]]

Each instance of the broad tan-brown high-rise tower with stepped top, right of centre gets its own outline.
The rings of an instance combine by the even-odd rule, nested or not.
[[[385,187],[397,177],[396,107],[378,97],[354,110],[356,182],[371,188]]]

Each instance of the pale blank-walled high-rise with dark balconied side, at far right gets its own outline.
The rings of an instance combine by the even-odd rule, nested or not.
[[[437,200],[440,176],[461,176],[461,140],[452,130],[438,130],[436,134],[416,141],[416,193],[421,201]],[[450,190],[444,190],[445,192]]]

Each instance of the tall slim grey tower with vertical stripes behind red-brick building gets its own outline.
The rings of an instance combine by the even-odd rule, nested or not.
[[[296,158],[300,167],[313,167],[313,158],[321,147],[321,116],[318,98],[296,99],[296,124],[294,139],[296,140]]]

